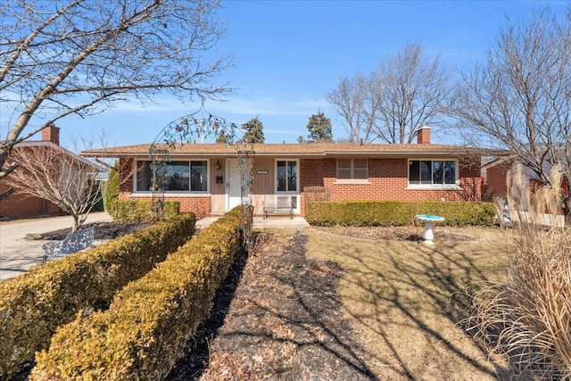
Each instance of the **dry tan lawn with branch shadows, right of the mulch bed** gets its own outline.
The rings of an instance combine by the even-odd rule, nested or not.
[[[418,228],[422,234],[422,228]],[[470,228],[477,242],[434,246],[410,241],[367,241],[307,229],[308,258],[337,262],[343,311],[366,349],[378,379],[506,379],[459,321],[474,282],[500,280],[509,244],[499,228]]]

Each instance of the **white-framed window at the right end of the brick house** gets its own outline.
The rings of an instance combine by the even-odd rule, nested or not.
[[[456,162],[433,160],[409,161],[409,184],[411,185],[455,185]]]

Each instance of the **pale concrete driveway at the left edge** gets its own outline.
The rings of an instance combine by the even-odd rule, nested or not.
[[[100,211],[89,213],[86,222],[112,220],[109,214]],[[24,239],[26,235],[49,233],[71,228],[72,225],[73,219],[70,216],[0,222],[0,281],[16,277],[42,262],[42,244],[48,241],[27,241]]]

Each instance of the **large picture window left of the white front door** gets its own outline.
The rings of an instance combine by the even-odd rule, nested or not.
[[[163,179],[166,192],[208,192],[208,161],[166,162]],[[137,192],[149,192],[153,186],[151,162],[137,162]]]

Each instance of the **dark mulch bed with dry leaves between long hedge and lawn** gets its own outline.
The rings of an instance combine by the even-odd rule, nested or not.
[[[374,378],[340,311],[342,270],[306,260],[305,239],[257,236],[167,380]]]

